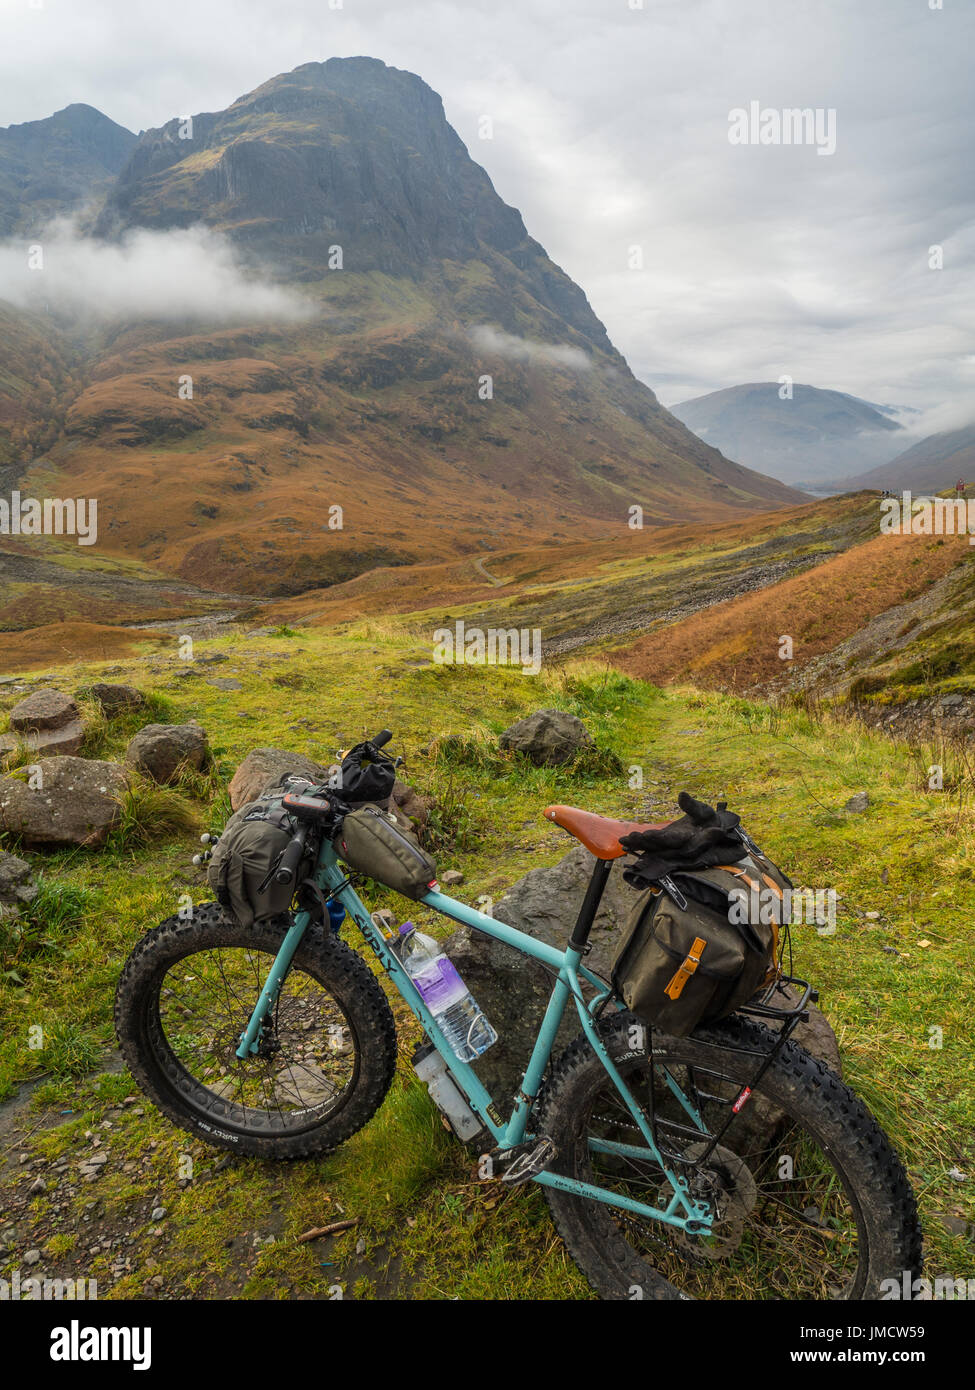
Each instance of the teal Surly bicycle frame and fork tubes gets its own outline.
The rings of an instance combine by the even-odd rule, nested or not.
[[[316,877],[325,897],[339,902],[345,908],[349,917],[352,917],[356,923],[370,948],[378,956],[384,970],[395,984],[396,990],[423,1024],[427,1037],[444,1058],[448,1072],[466,1097],[470,1109],[478,1116],[484,1127],[494,1137],[499,1151],[512,1150],[519,1144],[523,1144],[529,1137],[531,1105],[538,1094],[545,1068],[548,1066],[548,1061],[552,1055],[559,1024],[566,1008],[569,1006],[569,1001],[572,999],[590,1047],[602,1062],[602,1066],[623,1098],[626,1108],[633,1116],[633,1120],[647,1144],[647,1148],[640,1148],[633,1144],[618,1144],[611,1140],[590,1138],[590,1148],[594,1152],[616,1154],[625,1158],[638,1158],[655,1162],[666,1175],[670,1187],[673,1188],[673,1195],[668,1207],[661,1209],[650,1207],[647,1202],[638,1202],[630,1197],[625,1197],[620,1193],[613,1193],[609,1188],[597,1187],[593,1183],[583,1183],[577,1179],[565,1177],[559,1173],[542,1170],[533,1176],[533,1182],[540,1183],[544,1187],[558,1187],[562,1191],[574,1193],[579,1197],[587,1197],[593,1201],[604,1202],[608,1207],[619,1207],[623,1211],[633,1212],[634,1215],[648,1216],[669,1226],[676,1226],[682,1230],[686,1229],[694,1234],[702,1234],[711,1229],[711,1208],[707,1202],[693,1201],[687,1191],[687,1180],[670,1172],[663,1162],[656,1143],[654,1141],[654,1134],[647,1116],[644,1115],[641,1106],[630,1095],[626,1083],[619,1074],[605,1044],[602,1042],[602,1038],[599,1037],[593,1012],[608,998],[608,991],[605,981],[593,974],[591,970],[587,970],[581,963],[581,948],[573,945],[570,940],[565,951],[556,951],[544,941],[535,941],[535,938],[530,937],[527,933],[519,931],[516,927],[509,927],[503,922],[497,922],[494,917],[488,917],[485,913],[477,912],[476,908],[469,908],[466,903],[448,897],[445,892],[430,891],[420,899],[428,908],[433,908],[434,912],[440,912],[442,916],[451,917],[453,922],[460,922],[465,926],[474,927],[477,931],[483,931],[485,935],[494,937],[497,941],[501,941],[508,947],[513,947],[513,949],[520,951],[522,955],[531,956],[531,959],[541,962],[541,965],[547,966],[555,974],[552,994],[545,1008],[538,1036],[529,1058],[529,1065],[524,1070],[520,1091],[515,1098],[515,1106],[509,1118],[505,1120],[498,1112],[494,1099],[483,1086],[477,1073],[472,1066],[460,1061],[451,1044],[446,1041],[435,1017],[423,1002],[419,990],[410,980],[402,963],[389,949],[385,937],[373,922],[369,909],[339,867],[335,851],[328,840],[323,841],[319,853]],[[594,910],[595,906],[593,906],[593,912]],[[267,1016],[268,1009],[274,1006],[281,986],[284,984],[288,970],[291,969],[291,962],[295,951],[298,949],[298,944],[300,942],[310,922],[310,913],[295,913],[293,924],[285,934],[281,948],[274,958],[274,963],[271,965],[267,980],[264,981],[264,987],[250,1016],[250,1022],[241,1036],[241,1044],[236,1049],[236,1056],[241,1061],[246,1061],[246,1058],[257,1052],[260,1047],[263,1020]],[[590,1004],[587,1004],[583,997],[583,980],[599,991]],[[702,1134],[707,1134],[707,1127],[695,1106],[684,1095],[680,1086],[673,1080],[666,1069],[663,1069],[663,1079],[690,1116],[691,1122],[701,1130]]]

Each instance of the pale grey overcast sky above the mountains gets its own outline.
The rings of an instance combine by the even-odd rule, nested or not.
[[[932,3],[0,0],[0,125],[88,101],[138,131],[382,58],[666,404],[787,374],[947,427],[975,417],[975,0]],[[732,145],[751,101],[835,108],[835,153]]]

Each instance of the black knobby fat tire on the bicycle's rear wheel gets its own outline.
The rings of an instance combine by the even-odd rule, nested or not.
[[[645,1061],[647,1048],[636,1052],[630,1045],[636,1022],[630,1013],[618,1013],[602,1029],[609,1055],[620,1065],[631,1058]],[[644,1030],[644,1036],[648,1031]],[[700,1029],[688,1038],[652,1034],[658,1065],[668,1059],[673,1065],[693,1065],[695,1061],[705,1065],[709,1061],[712,1066],[722,1066],[725,1074],[734,1074],[734,1058],[727,1051],[715,1054],[715,1044],[723,1049],[747,1047],[768,1051],[773,1041],[766,1027],[740,1017]],[[754,1074],[757,1059],[743,1058],[740,1066],[741,1079],[747,1080]],[[586,1176],[586,1116],[594,1095],[606,1081],[602,1063],[583,1037],[572,1042],[555,1063],[540,1099],[538,1116],[541,1130],[558,1148],[552,1172]],[[761,1093],[769,1101],[780,1101],[790,1118],[804,1125],[829,1154],[848,1193],[855,1197],[862,1219],[865,1273],[853,1297],[879,1298],[882,1280],[896,1279],[900,1286],[904,1270],[914,1279],[921,1270],[921,1227],[914,1191],[900,1158],[864,1104],[829,1068],[791,1042],[782,1048],[765,1073]],[[644,1298],[688,1297],[637,1254],[613,1220],[611,1208],[554,1187],[545,1188],[545,1198],[569,1254],[601,1298],[631,1298],[634,1286],[641,1289]],[[755,1298],[764,1295],[761,1289],[754,1293]]]

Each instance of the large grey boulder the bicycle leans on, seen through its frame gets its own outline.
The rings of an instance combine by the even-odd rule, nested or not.
[[[594,862],[593,855],[577,845],[558,863],[531,869],[494,905],[494,917],[559,951],[565,949]],[[634,890],[623,881],[623,866],[629,862],[629,858],[613,860],[590,933],[591,951],[584,963],[605,979],[609,977],[623,926],[636,902]],[[501,1108],[510,1108],[552,992],[552,977],[527,956],[470,927],[455,931],[445,951],[498,1031],[498,1041],[478,1058],[474,1070]],[[580,1031],[574,1009],[566,1012],[554,1055]],[[836,1038],[818,1009],[809,1009],[809,1023],[800,1023],[793,1036],[801,1047],[839,1073]],[[766,1102],[752,1106],[752,1111],[755,1122],[765,1126],[775,1122],[772,1106]]]

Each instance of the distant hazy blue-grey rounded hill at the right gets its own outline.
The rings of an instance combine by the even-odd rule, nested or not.
[[[779,391],[771,381],[727,386],[670,411],[729,457],[796,485],[844,477],[897,450],[896,406],[798,382],[789,400]]]

